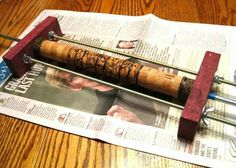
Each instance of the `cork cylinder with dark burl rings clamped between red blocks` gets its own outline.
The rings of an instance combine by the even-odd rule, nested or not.
[[[86,71],[113,77],[180,100],[187,99],[194,82],[186,77],[163,72],[126,59],[114,58],[54,41],[38,39],[34,49],[43,57],[76,65]]]

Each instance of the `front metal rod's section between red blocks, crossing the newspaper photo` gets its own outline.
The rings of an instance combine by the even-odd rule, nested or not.
[[[104,84],[104,85],[107,85],[107,86],[110,86],[110,87],[113,87],[113,88],[116,88],[116,89],[120,89],[120,90],[129,92],[129,93],[138,95],[138,96],[142,96],[142,97],[145,97],[145,98],[148,98],[148,99],[151,99],[151,100],[154,100],[154,101],[157,101],[157,102],[160,102],[160,103],[163,103],[163,104],[175,107],[175,108],[180,109],[180,110],[184,109],[183,106],[180,106],[180,105],[175,104],[175,103],[171,103],[171,102],[168,102],[168,101],[165,101],[165,100],[161,100],[159,98],[156,98],[156,97],[153,97],[153,96],[149,96],[149,95],[146,95],[146,94],[143,94],[143,93],[139,93],[139,92],[136,92],[136,91],[131,90],[131,89],[127,89],[127,88],[122,87],[122,86],[118,86],[118,85],[115,85],[115,84],[112,84],[112,83],[109,83],[109,82],[106,82],[106,81],[99,80],[97,78],[93,78],[91,76],[87,76],[87,75],[84,75],[84,74],[81,74],[81,73],[78,73],[78,72],[70,71],[68,69],[61,68],[61,67],[49,64],[49,63],[45,63],[43,61],[39,61],[37,59],[31,58],[30,56],[24,56],[24,57],[25,57],[24,61],[26,63],[31,62],[31,63],[43,64],[43,65],[46,65],[46,66],[49,66],[49,67],[52,67],[52,68],[55,68],[55,69],[58,69],[58,70],[61,70],[61,71],[65,71],[65,72],[68,72],[68,73],[71,73],[71,74],[74,74],[74,75],[78,75],[78,76],[80,76],[82,78],[85,78],[85,79],[88,79],[88,80],[92,80],[92,81],[95,81],[97,83],[101,83],[101,84]]]

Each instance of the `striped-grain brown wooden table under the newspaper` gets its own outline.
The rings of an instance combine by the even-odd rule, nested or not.
[[[235,0],[0,0],[0,32],[19,36],[44,9],[236,25]],[[0,54],[11,44],[0,39]],[[0,167],[199,167],[0,115]]]

